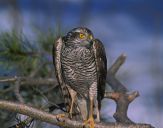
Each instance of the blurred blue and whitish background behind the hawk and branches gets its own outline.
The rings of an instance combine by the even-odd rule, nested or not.
[[[104,43],[108,66],[121,53],[127,55],[126,63],[117,74],[118,79],[130,91],[140,92],[140,97],[130,105],[128,116],[135,122],[150,123],[156,128],[162,128],[161,0],[0,0],[0,75],[26,76],[43,61],[52,62],[51,48],[55,37],[78,26],[90,28],[95,37]],[[8,46],[13,47],[14,41],[19,42],[20,46],[30,42],[30,50],[33,51],[44,50],[44,59],[15,59],[13,53],[4,52]],[[24,49],[29,50],[29,47],[25,46]],[[30,62],[33,62],[32,66]],[[49,74],[52,65],[42,70],[44,69],[46,70],[40,71],[42,77],[54,75]],[[4,84],[0,85],[0,89],[4,89]],[[10,93],[6,95],[12,96]],[[4,97],[0,94],[0,98],[4,99],[6,95]],[[114,102],[103,102],[102,117],[114,121]],[[0,116],[0,120],[5,122],[5,118]]]

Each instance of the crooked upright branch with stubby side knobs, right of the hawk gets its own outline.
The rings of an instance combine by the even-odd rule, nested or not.
[[[119,123],[134,123],[127,116],[127,110],[129,104],[139,96],[139,92],[135,91],[131,94],[127,94],[127,88],[116,79],[115,74],[118,72],[119,68],[125,62],[126,56],[124,54],[120,55],[114,64],[109,68],[107,74],[107,82],[112,87],[114,92],[106,92],[105,98],[113,99],[116,102],[116,112],[113,117]]]

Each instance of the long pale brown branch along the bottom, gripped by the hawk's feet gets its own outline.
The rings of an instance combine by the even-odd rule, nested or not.
[[[13,103],[8,101],[0,100],[0,109],[20,113],[23,115],[30,116],[34,119],[41,120],[53,125],[61,126],[64,128],[83,128],[87,127],[84,123],[79,121],[73,121],[68,118],[61,118],[57,115],[49,114],[42,110],[30,107],[24,104]],[[98,123],[95,124],[95,128],[153,128],[148,124],[121,124],[121,123]]]

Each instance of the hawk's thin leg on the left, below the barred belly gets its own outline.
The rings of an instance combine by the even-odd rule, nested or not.
[[[72,118],[72,114],[73,114],[72,110],[73,110],[73,105],[74,105],[77,93],[76,93],[76,91],[74,91],[71,88],[68,88],[68,89],[69,89],[69,92],[71,95],[71,105],[70,105],[70,110],[69,110],[69,116],[70,116],[70,118]]]

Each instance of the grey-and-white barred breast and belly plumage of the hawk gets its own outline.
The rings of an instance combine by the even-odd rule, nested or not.
[[[97,81],[94,54],[85,47],[65,47],[62,52],[64,79],[70,87],[81,95],[88,94],[91,84]]]

